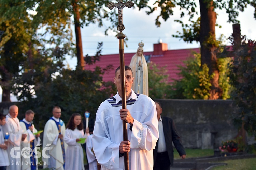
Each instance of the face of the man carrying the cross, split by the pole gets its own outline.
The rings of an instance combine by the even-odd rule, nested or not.
[[[116,72],[116,76],[114,77],[114,83],[116,84],[117,90],[122,91],[120,70]],[[125,92],[131,91],[132,83],[133,77],[131,70],[125,70]]]

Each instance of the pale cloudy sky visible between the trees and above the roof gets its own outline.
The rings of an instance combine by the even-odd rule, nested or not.
[[[113,1],[116,3],[115,1]],[[150,1],[152,3],[153,0]],[[116,8],[113,10],[117,10]],[[198,13],[199,5],[196,9]],[[110,10],[109,10],[110,11]],[[199,48],[199,43],[185,43],[180,38],[173,38],[172,35],[176,34],[177,31],[181,31],[181,24],[174,22],[175,19],[180,19],[184,23],[188,21],[188,16],[180,18],[179,8],[175,8],[174,15],[165,22],[162,19],[161,26],[157,27],[155,25],[155,19],[160,13],[155,11],[153,14],[147,15],[146,9],[138,10],[138,8],[123,8],[123,24],[125,30],[123,33],[128,38],[127,46],[124,47],[125,53],[135,53],[138,48],[138,43],[141,40],[144,43],[144,52],[153,51],[153,44],[158,43],[159,39],[163,43],[168,44],[168,50],[174,49],[186,49],[186,48]],[[233,30],[232,23],[228,23],[228,14],[223,10],[216,10],[217,15],[217,24],[221,25],[222,28],[216,27],[216,38],[219,38],[223,34],[228,38]],[[247,39],[256,39],[256,32],[253,29],[256,27],[256,20],[253,18],[254,8],[248,6],[244,12],[240,12],[238,20],[240,21],[241,34],[246,35]],[[197,17],[195,17],[196,20]],[[187,22],[188,23],[188,22]],[[98,42],[103,42],[102,55],[105,54],[118,54],[119,53],[119,41],[116,38],[116,34],[109,32],[109,35],[104,35],[105,29],[109,26],[109,22],[103,22],[103,27],[99,28],[98,24],[90,24],[88,27],[81,29],[82,34],[82,45],[83,45],[83,55],[88,54],[93,56],[96,53]],[[74,33],[73,33],[74,34]],[[224,42],[226,45],[230,45],[230,42],[227,40]],[[69,64],[69,67],[75,68],[77,65],[76,58],[70,58],[67,56],[65,64]],[[0,87],[0,101],[2,101],[2,89]],[[11,98],[12,101],[15,101],[15,98]]]

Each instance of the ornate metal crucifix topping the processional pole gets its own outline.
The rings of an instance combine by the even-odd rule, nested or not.
[[[122,33],[122,31],[125,29],[125,26],[123,25],[123,8],[126,6],[128,8],[131,8],[134,5],[131,1],[128,1],[126,3],[123,3],[122,0],[118,0],[118,3],[109,2],[106,7],[108,7],[110,10],[112,10],[114,7],[118,8],[118,26],[117,30]]]

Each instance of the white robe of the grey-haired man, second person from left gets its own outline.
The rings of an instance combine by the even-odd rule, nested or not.
[[[8,113],[6,115],[6,123],[3,126],[3,129],[4,129],[4,134],[8,132],[10,135],[8,138],[9,143],[8,143],[8,149],[7,149],[10,165],[7,167],[7,170],[9,169],[20,170],[21,164],[22,164],[21,157],[20,157],[20,149],[14,148],[14,147],[20,147],[21,137],[23,133],[23,130],[19,125],[19,119],[17,117],[12,118],[11,115]]]

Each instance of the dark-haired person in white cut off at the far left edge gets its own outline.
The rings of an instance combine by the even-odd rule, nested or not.
[[[6,170],[6,167],[10,165],[9,158],[7,154],[7,139],[3,133],[2,126],[5,124],[5,115],[0,113],[0,170]],[[5,141],[6,140],[6,141]]]

